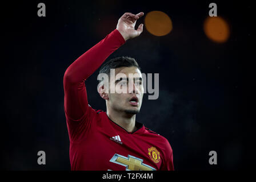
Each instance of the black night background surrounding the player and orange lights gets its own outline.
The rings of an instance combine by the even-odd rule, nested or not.
[[[46,5],[46,17],[37,16],[40,2]],[[131,56],[142,73],[159,73],[159,98],[148,100],[145,94],[137,120],[169,140],[175,170],[249,169],[253,155],[245,146],[254,145],[247,105],[255,82],[253,6],[214,2],[230,25],[230,38],[222,44],[203,32],[211,1],[3,3],[1,169],[70,169],[63,109],[66,68],[113,31],[123,13],[154,10],[170,16],[170,34],[153,36],[144,26],[138,38],[107,59]],[[89,104],[106,111],[97,75],[98,70],[86,81]],[[46,165],[37,164],[40,150],[46,152]],[[212,150],[218,154],[213,166],[208,162]]]

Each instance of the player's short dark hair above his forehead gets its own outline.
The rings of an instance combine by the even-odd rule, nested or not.
[[[104,63],[99,69],[99,73],[110,74],[110,69],[120,68],[120,67],[137,67],[139,71],[141,68],[139,67],[137,61],[133,57],[129,56],[121,56],[110,59],[106,63]],[[99,80],[101,82],[101,80]]]

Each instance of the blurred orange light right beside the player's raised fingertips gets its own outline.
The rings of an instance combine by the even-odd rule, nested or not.
[[[167,35],[173,29],[170,17],[162,11],[150,11],[147,13],[145,26],[147,31],[155,36]]]

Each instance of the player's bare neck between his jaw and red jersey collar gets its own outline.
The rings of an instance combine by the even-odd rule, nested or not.
[[[135,126],[136,114],[126,114],[121,113],[120,111],[107,110],[107,116],[128,132],[137,130],[137,127]]]

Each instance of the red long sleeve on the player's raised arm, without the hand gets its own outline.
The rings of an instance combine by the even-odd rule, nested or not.
[[[85,87],[86,79],[91,76],[111,53],[125,43],[120,32],[115,29],[104,39],[83,53],[67,69],[63,77],[64,110],[67,125],[79,126],[78,122],[85,122],[86,129],[93,117],[93,109],[89,106]],[[95,111],[95,110],[94,110]],[[75,124],[73,124],[75,123]],[[72,127],[72,126],[70,126]]]

